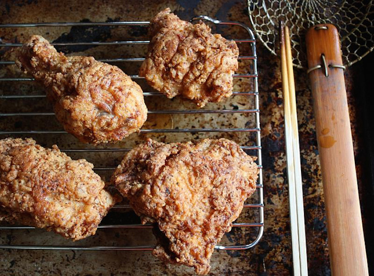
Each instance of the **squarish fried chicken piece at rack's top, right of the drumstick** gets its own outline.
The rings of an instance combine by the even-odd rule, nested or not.
[[[152,40],[139,75],[168,98],[181,95],[198,107],[230,97],[239,49],[210,31],[201,21],[180,20],[169,8],[160,12],[149,26]]]

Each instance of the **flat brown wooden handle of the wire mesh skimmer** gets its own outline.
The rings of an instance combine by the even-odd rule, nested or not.
[[[339,35],[330,24],[308,30],[307,55],[333,275],[368,275]],[[323,65],[325,57],[327,68]],[[327,72],[328,77],[325,76]]]

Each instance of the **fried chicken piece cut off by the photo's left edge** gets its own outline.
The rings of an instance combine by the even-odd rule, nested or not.
[[[33,139],[0,140],[0,221],[54,231],[72,240],[94,235],[115,204],[85,159]]]

